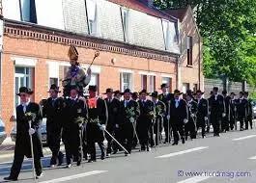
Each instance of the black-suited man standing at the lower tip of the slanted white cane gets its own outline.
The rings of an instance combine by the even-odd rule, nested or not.
[[[140,115],[140,109],[138,103],[131,99],[131,91],[129,89],[126,89],[123,92],[123,95],[124,100],[121,103],[122,142],[125,144],[125,147],[130,154],[135,131],[134,122]],[[125,152],[126,155],[128,155],[128,153]]]

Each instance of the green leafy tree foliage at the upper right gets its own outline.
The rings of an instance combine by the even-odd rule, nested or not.
[[[256,80],[256,0],[155,0],[155,5],[162,10],[191,6],[204,39],[207,77]]]

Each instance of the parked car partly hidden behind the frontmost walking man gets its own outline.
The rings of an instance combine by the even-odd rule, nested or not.
[[[39,130],[41,131],[42,135],[42,144],[45,145],[47,144],[47,134],[46,134],[46,118],[43,118],[42,123],[40,124]],[[14,122],[14,126],[11,131],[11,139],[13,142],[16,141],[16,123]]]

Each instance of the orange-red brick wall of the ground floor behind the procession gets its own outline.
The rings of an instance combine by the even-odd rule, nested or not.
[[[90,64],[95,50],[78,47],[79,62],[81,64]],[[36,39],[16,39],[9,36],[4,37],[3,54],[3,86],[2,104],[3,110],[1,116],[7,124],[7,132],[11,131],[13,123],[11,117],[14,115],[14,62],[11,57],[26,57],[37,60],[35,66],[34,98],[39,102],[47,97],[48,90],[48,65],[47,62],[68,63],[69,46],[53,42],[47,42]],[[113,65],[111,60],[115,59]],[[133,71],[134,90],[141,90],[141,76],[139,71],[149,71],[156,73],[156,89],[161,84],[161,74],[172,76],[172,89],[176,87],[175,63],[156,61],[153,59],[139,58],[124,54],[110,53],[101,51],[100,57],[95,61],[95,65],[100,66],[100,93],[106,88],[112,87],[115,90],[120,89],[120,69],[130,69]]]

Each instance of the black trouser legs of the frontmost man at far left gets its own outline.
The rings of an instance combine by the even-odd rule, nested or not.
[[[11,169],[11,177],[17,178],[18,174],[21,170],[21,166],[24,160],[24,154],[19,154],[17,152],[14,153],[14,163]],[[36,169],[36,174],[40,175],[43,171],[42,164],[41,164],[41,157],[39,156],[34,156],[34,162],[35,162],[35,169]]]

